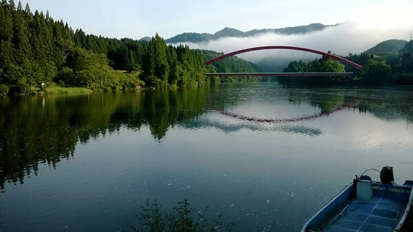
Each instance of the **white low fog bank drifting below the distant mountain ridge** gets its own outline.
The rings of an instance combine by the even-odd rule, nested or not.
[[[311,48],[327,52],[330,50],[333,54],[347,56],[349,53],[359,54],[372,48],[377,43],[388,39],[409,40],[410,32],[413,30],[413,22],[410,25],[375,25],[374,22],[355,23],[348,22],[341,25],[325,28],[318,32],[308,34],[282,35],[274,33],[259,34],[257,36],[237,38],[225,37],[207,43],[183,43],[193,49],[213,50],[216,52],[233,52],[244,48],[265,46],[265,45],[291,45],[304,48]],[[173,44],[179,45],[179,44]],[[255,55],[240,56],[251,62],[268,59],[268,56],[284,56],[291,54],[288,52],[251,52]],[[301,55],[295,55],[300,52],[294,52],[293,56],[298,59]],[[306,52],[304,52],[306,53]],[[304,59],[313,59],[313,56],[306,55]],[[290,59],[291,60],[291,59]]]

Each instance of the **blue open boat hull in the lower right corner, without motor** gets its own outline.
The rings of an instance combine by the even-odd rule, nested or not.
[[[373,183],[373,200],[357,200],[351,183],[315,213],[301,232],[398,230],[413,202],[412,185],[410,180],[403,185]]]

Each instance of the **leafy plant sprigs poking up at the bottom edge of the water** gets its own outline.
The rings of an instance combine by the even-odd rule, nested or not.
[[[167,213],[167,209],[162,209],[162,207],[158,204],[157,199],[147,199],[146,204],[141,206],[142,211],[136,215],[142,221],[142,226],[128,224],[129,228],[134,231],[149,232],[214,232],[233,231],[233,226],[236,226],[233,222],[226,227],[222,226],[222,215],[218,215],[218,218],[210,224],[206,217],[208,207],[204,211],[195,213],[196,209],[191,207],[186,199],[178,202],[178,205],[173,207],[170,213]]]

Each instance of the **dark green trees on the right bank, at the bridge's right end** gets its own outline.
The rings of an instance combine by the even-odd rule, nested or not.
[[[354,72],[354,76],[332,77],[279,77],[282,83],[352,83],[352,84],[413,84],[413,41],[405,43],[399,53],[348,54],[344,57],[363,66],[356,68],[323,57],[308,63],[291,61],[283,72]]]

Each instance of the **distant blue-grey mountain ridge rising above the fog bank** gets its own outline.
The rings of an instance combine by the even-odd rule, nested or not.
[[[339,25],[339,24],[337,24]],[[170,39],[167,39],[165,42],[167,43],[184,43],[184,42],[193,42],[193,43],[200,43],[200,42],[207,42],[215,39],[220,39],[224,37],[248,37],[248,36],[255,36],[256,34],[262,33],[276,33],[276,34],[306,34],[308,32],[315,32],[323,30],[327,27],[334,27],[336,25],[323,25],[321,23],[312,23],[310,25],[300,25],[297,27],[290,27],[290,28],[278,28],[278,29],[261,29],[261,30],[250,30],[248,32],[242,32],[240,30],[234,28],[224,28],[215,34],[208,34],[208,33],[195,33],[195,32],[186,32],[182,34],[178,34],[173,36]]]

